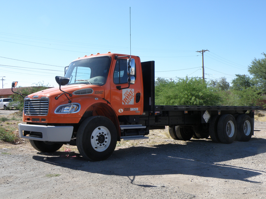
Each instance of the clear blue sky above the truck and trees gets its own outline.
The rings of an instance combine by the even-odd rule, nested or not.
[[[227,81],[266,53],[266,1],[1,1],[0,88],[43,84],[78,57],[155,61],[155,77]],[[4,76],[4,77],[3,77]],[[3,79],[3,81],[2,81]]]

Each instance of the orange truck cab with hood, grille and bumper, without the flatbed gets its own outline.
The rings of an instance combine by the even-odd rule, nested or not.
[[[106,153],[107,148],[111,147],[113,152],[116,142],[121,139],[121,126],[123,133],[134,129],[128,134],[131,139],[148,134],[147,127],[138,125],[134,118],[143,114],[144,103],[139,57],[114,53],[84,56],[71,62],[65,76],[56,79],[59,87],[24,98],[23,122],[26,124],[19,124],[19,133],[20,137],[30,139],[35,149],[50,152],[69,143],[77,145],[85,158],[98,160],[93,157],[105,159],[110,155],[110,152]],[[128,118],[133,123],[128,122]],[[91,136],[84,138],[88,129],[82,129],[82,125],[91,126],[99,120],[110,125],[107,128],[99,124],[100,127],[94,128],[103,136],[91,132],[92,137],[100,137],[102,143],[99,139],[90,141]],[[123,120],[127,122],[121,122]],[[123,123],[127,125],[123,126]],[[88,149],[83,149],[86,139],[92,142],[90,150],[101,155],[86,154]]]

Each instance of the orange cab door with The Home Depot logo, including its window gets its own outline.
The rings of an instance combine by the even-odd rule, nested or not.
[[[142,114],[141,79],[140,70],[135,67],[135,84],[128,87],[127,59],[118,58],[111,69],[110,78],[110,101],[111,106],[118,115],[140,115]],[[121,86],[121,90],[119,90]]]

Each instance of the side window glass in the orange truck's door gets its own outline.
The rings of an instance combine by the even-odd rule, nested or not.
[[[117,59],[114,71],[114,83],[115,84],[125,84],[128,83],[127,75],[127,60]]]

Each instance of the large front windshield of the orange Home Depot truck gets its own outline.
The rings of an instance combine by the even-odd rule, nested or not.
[[[68,84],[103,85],[109,70],[111,58],[92,57],[70,63],[65,77],[70,78]]]

